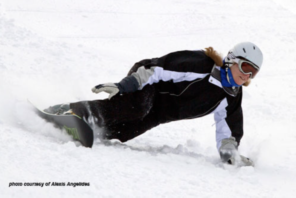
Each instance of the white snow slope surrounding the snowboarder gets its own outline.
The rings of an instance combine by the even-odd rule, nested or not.
[[[296,197],[295,10],[294,0],[1,0],[0,197]],[[209,46],[226,55],[241,41],[264,54],[242,104],[239,152],[254,167],[221,163],[213,115],[90,149],[27,102],[103,99],[91,88],[144,58]]]

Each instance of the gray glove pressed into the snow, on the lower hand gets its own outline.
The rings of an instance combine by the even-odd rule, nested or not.
[[[237,142],[234,137],[225,138],[221,142],[219,149],[220,157],[222,162],[228,164],[237,164],[239,166],[254,166],[252,160],[242,155],[239,155],[237,151]]]

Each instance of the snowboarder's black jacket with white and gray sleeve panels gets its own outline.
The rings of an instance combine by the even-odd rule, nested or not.
[[[138,68],[117,83],[120,93],[156,87],[154,109],[160,123],[214,113],[217,149],[221,140],[243,135],[242,87],[223,87],[220,67],[199,51],[172,52]]]

